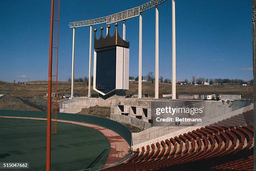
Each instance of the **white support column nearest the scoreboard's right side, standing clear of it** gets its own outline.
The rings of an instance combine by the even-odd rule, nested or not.
[[[138,75],[138,98],[141,98],[142,78],[142,15],[139,15],[139,75]]]

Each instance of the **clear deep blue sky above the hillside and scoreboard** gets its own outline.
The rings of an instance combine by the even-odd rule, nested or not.
[[[71,76],[69,22],[104,17],[149,0],[61,0],[59,80]],[[0,80],[47,80],[51,0],[0,1]],[[138,17],[126,21],[130,76],[138,75]],[[122,22],[118,30],[122,36]],[[100,26],[93,28],[100,30]],[[110,33],[114,32],[111,25]],[[105,28],[106,29],[106,28]],[[105,30],[104,29],[104,33]],[[99,32],[97,32],[99,37]],[[88,77],[90,27],[76,29],[75,77]],[[176,0],[177,80],[252,79],[251,0]],[[142,72],[154,72],[155,9],[143,12]],[[92,63],[93,66],[93,63]],[[159,6],[159,76],[172,76],[172,1]],[[22,78],[23,77],[23,78]]]

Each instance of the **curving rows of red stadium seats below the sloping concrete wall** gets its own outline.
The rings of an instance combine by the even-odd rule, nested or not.
[[[202,170],[217,169],[213,166],[252,154],[253,127],[248,126],[252,118],[253,111],[248,111],[211,126],[148,144],[136,149],[124,163],[103,170],[169,170],[176,166],[179,166],[179,170],[182,170],[180,166],[192,166],[198,170],[196,165]]]

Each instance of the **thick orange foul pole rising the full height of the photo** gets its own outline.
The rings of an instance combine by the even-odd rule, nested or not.
[[[52,65],[52,34],[53,34],[54,0],[51,0],[50,47],[49,47],[49,74],[48,74],[48,106],[47,106],[47,144],[46,144],[46,171],[51,171],[51,65]]]

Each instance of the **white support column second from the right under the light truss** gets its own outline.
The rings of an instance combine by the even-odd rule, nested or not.
[[[155,98],[159,95],[159,21],[158,21],[158,6],[156,6],[156,62],[155,62]]]

